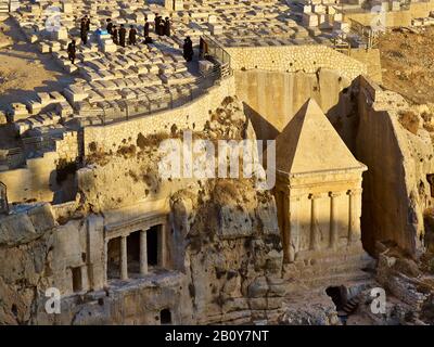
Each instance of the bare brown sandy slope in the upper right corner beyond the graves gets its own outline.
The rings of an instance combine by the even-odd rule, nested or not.
[[[434,102],[434,27],[380,39],[383,86],[417,104]]]

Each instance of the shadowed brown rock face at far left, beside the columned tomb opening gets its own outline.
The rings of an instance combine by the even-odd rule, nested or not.
[[[1,219],[0,322],[26,324],[34,318],[35,301],[52,279],[55,222],[50,205]]]

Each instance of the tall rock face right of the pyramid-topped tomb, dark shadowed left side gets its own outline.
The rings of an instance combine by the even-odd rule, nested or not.
[[[430,112],[412,110],[400,95],[365,78],[358,104],[355,154],[369,168],[363,178],[363,245],[374,254],[376,241],[391,241],[416,256],[423,249],[423,215],[433,203]]]

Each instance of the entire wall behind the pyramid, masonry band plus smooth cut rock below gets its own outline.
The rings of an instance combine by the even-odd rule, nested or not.
[[[348,147],[356,117],[352,81],[368,68],[365,61],[322,46],[227,48],[237,94],[258,139],[275,139],[307,99],[327,114]]]

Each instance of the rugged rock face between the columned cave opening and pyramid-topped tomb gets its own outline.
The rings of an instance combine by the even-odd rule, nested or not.
[[[276,321],[285,293],[276,204],[250,181],[208,182],[171,201],[200,323]],[[273,216],[273,218],[270,218]]]

